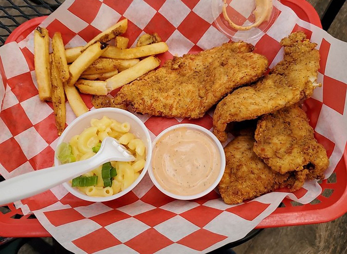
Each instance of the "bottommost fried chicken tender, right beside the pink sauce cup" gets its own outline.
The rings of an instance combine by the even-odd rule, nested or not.
[[[295,184],[289,173],[281,175],[271,170],[253,152],[254,141],[249,135],[238,136],[224,149],[226,168],[218,189],[226,204],[237,204]]]

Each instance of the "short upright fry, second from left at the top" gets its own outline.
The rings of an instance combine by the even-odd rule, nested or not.
[[[59,70],[59,75],[62,82],[67,81],[70,74],[67,67],[65,48],[60,32],[56,32],[52,38],[52,49],[54,54],[55,65]]]

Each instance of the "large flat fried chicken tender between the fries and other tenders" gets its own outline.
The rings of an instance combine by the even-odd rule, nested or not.
[[[117,94],[135,112],[200,118],[233,89],[257,81],[268,60],[245,42],[224,43],[166,61],[162,68],[124,85]]]

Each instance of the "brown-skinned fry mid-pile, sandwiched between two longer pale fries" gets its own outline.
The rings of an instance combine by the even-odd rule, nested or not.
[[[118,68],[124,70],[136,65],[139,61],[138,59],[99,58],[83,71],[82,75],[107,73]]]

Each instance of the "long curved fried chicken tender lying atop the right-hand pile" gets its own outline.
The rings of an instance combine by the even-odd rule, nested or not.
[[[295,32],[281,40],[284,57],[270,74],[251,86],[241,87],[218,103],[213,133],[226,141],[227,124],[255,119],[310,98],[317,84],[320,55],[316,43]]]

